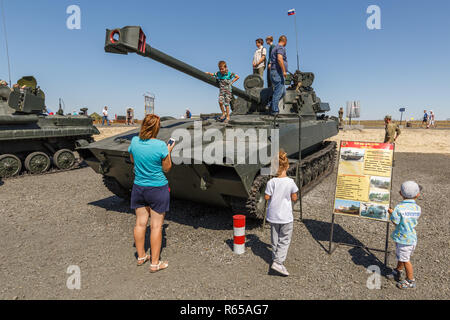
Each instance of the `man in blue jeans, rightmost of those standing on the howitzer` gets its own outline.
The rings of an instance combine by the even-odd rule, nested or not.
[[[270,80],[273,86],[272,101],[270,103],[271,115],[278,115],[278,103],[283,95],[286,93],[284,86],[284,79],[288,70],[287,57],[286,57],[286,36],[281,36],[278,39],[278,45],[273,48],[270,55]]]

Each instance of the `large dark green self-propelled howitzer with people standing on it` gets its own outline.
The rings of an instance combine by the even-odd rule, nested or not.
[[[137,53],[218,86],[212,76],[151,47],[139,26],[107,29],[105,51]],[[329,104],[316,96],[311,87],[313,80],[314,74],[310,72],[297,70],[290,75],[278,116],[269,115],[267,110],[272,88],[263,88],[263,79],[259,75],[250,75],[244,81],[245,91],[233,87],[233,95],[237,98],[232,101],[228,123],[217,121],[217,114],[201,114],[197,120],[162,117],[158,138],[165,141],[171,137],[178,139],[172,153],[176,165],[167,174],[172,197],[228,206],[249,217],[263,218],[264,190],[269,180],[267,171],[263,173],[263,169],[270,167],[270,163],[252,163],[249,159],[263,147],[267,147],[265,150],[272,155],[277,154],[276,142],[287,152],[292,164],[288,174],[296,178],[303,192],[313,188],[334,168],[336,143],[325,140],[338,133],[338,119],[325,114],[330,110]],[[203,136],[210,129],[225,138],[206,141]],[[234,145],[233,150],[223,153],[226,154],[223,161],[215,163],[204,161],[201,152],[196,152],[198,148],[207,150],[214,147],[223,151],[230,140],[251,135],[252,130],[266,131],[268,139],[265,146],[259,141],[251,142],[249,138],[244,148]],[[187,136],[177,136],[177,132],[187,132]],[[228,132],[234,136],[229,136]],[[274,132],[278,133],[277,141],[274,141]],[[122,198],[129,197],[133,186],[133,164],[127,150],[131,139],[138,134],[139,129],[135,129],[77,149],[87,164],[103,175],[105,186]],[[184,151],[177,153],[177,147],[184,148]],[[245,161],[233,161],[243,154]],[[234,158],[229,159],[228,156]]]

